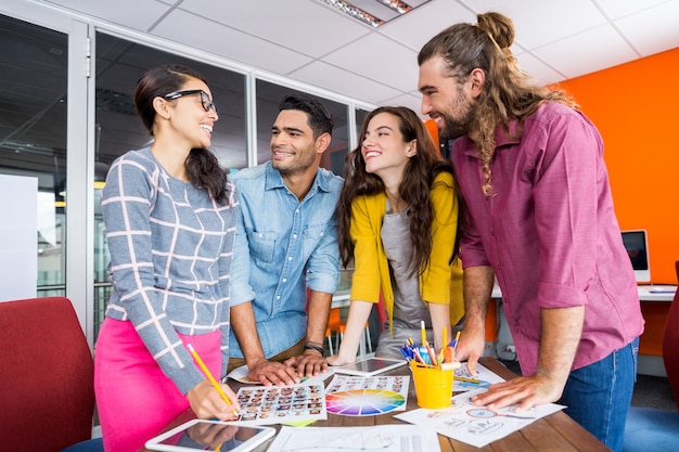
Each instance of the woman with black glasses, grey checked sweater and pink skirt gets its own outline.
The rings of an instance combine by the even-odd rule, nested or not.
[[[113,294],[94,388],[104,448],[115,452],[139,450],[189,406],[223,421],[238,409],[207,376],[223,377],[228,364],[238,208],[207,150],[218,119],[210,90],[193,69],[163,66],[139,80],[134,104],[153,143],[114,162],[102,193]]]

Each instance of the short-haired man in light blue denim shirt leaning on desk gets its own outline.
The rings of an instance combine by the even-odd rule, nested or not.
[[[271,128],[271,162],[231,177],[241,215],[229,370],[247,364],[248,378],[264,385],[328,370],[322,351],[340,279],[334,214],[343,180],[319,164],[332,128],[317,100],[286,96]]]

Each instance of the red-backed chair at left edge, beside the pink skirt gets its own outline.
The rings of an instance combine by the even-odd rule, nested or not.
[[[0,302],[0,451],[103,452],[94,364],[67,298]]]

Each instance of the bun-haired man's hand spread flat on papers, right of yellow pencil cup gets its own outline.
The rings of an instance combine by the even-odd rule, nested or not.
[[[472,397],[472,402],[491,410],[518,404],[514,411],[521,413],[535,405],[555,402],[563,388],[563,384],[542,375],[518,377],[489,386],[487,392]]]

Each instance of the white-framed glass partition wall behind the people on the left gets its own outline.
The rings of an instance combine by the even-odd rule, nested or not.
[[[111,294],[106,272],[110,255],[100,205],[101,188],[115,158],[151,143],[151,137],[138,118],[132,100],[134,86],[143,72],[159,64],[179,63],[197,69],[206,77],[219,112],[212,151],[220,164],[230,169],[247,167],[248,162],[252,165],[270,159],[271,125],[278,115],[278,105],[283,95],[302,91],[262,79],[253,81],[249,78],[252,76],[217,67],[216,61],[210,60],[208,64],[192,60],[187,53],[179,55],[132,42],[104,28],[94,29],[91,25],[78,23],[75,33],[73,27],[68,28],[71,25],[60,24],[62,29],[69,29],[71,35],[0,14],[0,175],[26,176],[38,180],[38,296],[69,294],[66,290],[68,208],[73,224],[84,224],[85,231],[90,228],[93,230],[91,237],[82,234],[81,243],[81,231],[78,228],[69,231],[78,237],[77,241],[71,238],[69,249],[77,249],[69,264],[85,262],[69,271],[69,290],[78,287],[74,293],[77,304],[87,304],[86,322],[87,325],[93,324],[95,340]],[[71,62],[73,74],[68,73],[69,56],[71,60],[85,56],[87,36],[93,41],[90,78],[86,76],[87,66],[80,66],[75,61]],[[78,46],[72,52],[68,52],[69,40],[72,44]],[[256,92],[256,105],[253,108],[256,117],[248,117],[247,113],[248,83]],[[68,89],[73,92],[68,92]],[[328,98],[332,95],[329,93]],[[328,98],[321,101],[332,113],[335,128],[331,146],[321,165],[342,175],[350,142],[349,129],[355,128],[354,112],[349,108],[355,106]],[[82,108],[78,106],[80,104]],[[93,106],[93,111],[87,105]],[[361,112],[356,113],[359,126]],[[69,121],[69,115],[76,117]],[[349,117],[353,122],[350,128]],[[249,124],[251,120],[254,124]],[[255,143],[248,148],[247,137],[255,124]],[[71,132],[67,132],[67,127],[72,127]],[[67,150],[68,146],[72,148]],[[94,184],[77,191],[85,180],[92,180],[84,171],[85,168],[90,170],[91,162],[94,162]],[[69,190],[74,192],[71,206],[66,193],[67,163],[72,172],[68,177]],[[81,196],[88,193],[87,190],[91,190],[89,193],[92,197]],[[92,218],[90,224],[88,219]],[[92,256],[92,262],[89,256]],[[93,283],[93,293],[90,292],[90,283]],[[89,308],[92,305],[93,318]],[[88,337],[92,330],[86,326]]]

